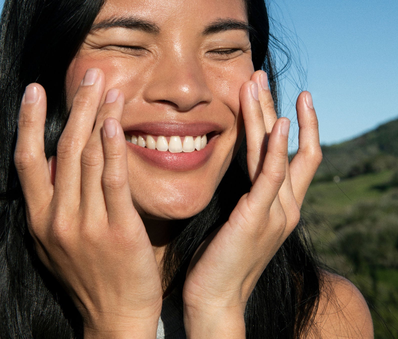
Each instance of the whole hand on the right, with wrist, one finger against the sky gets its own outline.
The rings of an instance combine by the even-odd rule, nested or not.
[[[277,119],[265,72],[255,72],[243,84],[240,102],[252,188],[193,256],[183,288],[189,338],[245,337],[246,302],[297,225],[304,195],[322,160],[318,121],[308,92],[297,99],[299,148],[290,164],[289,120]]]

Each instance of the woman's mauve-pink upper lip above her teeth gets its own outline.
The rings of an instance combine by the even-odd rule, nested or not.
[[[140,131],[146,134],[163,135],[163,136],[197,136],[216,132],[217,134],[223,130],[222,126],[211,122],[148,122],[138,123],[123,128],[124,132]]]

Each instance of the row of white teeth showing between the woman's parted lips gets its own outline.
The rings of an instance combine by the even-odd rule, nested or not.
[[[146,134],[140,131],[125,132],[127,142],[148,148],[150,150],[158,150],[161,152],[171,153],[190,153],[203,150],[207,142],[215,136],[216,132],[197,136],[164,136]]]

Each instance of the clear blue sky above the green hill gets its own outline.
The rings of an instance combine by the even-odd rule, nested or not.
[[[306,71],[299,87],[312,93],[322,144],[347,140],[398,117],[397,0],[267,2],[271,16],[286,27],[275,34]],[[295,68],[286,76],[282,113],[292,120],[294,150],[298,130],[291,103],[299,90],[291,82],[300,81]]]

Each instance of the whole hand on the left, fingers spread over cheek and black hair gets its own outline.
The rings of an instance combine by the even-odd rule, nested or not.
[[[41,85],[29,84],[14,162],[37,254],[80,311],[84,337],[153,337],[162,308],[158,265],[131,199],[127,145],[119,123],[124,95],[109,90],[99,108],[104,88],[103,72],[88,70],[57,157],[47,163],[46,94]]]

